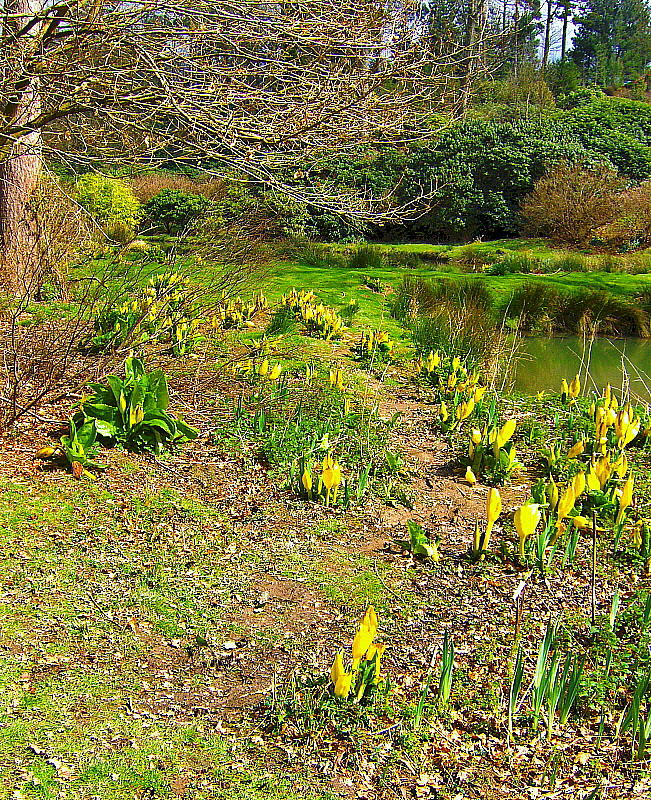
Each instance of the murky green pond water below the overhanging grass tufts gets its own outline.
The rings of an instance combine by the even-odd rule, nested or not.
[[[626,373],[631,394],[651,401],[651,339],[596,339],[590,345],[577,337],[527,338],[514,367],[515,388],[558,391],[561,380],[577,372],[587,388],[599,391],[607,383],[621,386]]]

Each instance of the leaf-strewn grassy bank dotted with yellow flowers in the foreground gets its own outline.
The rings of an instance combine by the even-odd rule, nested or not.
[[[405,271],[431,277],[376,277]],[[352,349],[369,324],[400,333],[381,293],[295,261],[273,281],[250,324],[202,323],[182,355],[143,346],[194,441],[102,447],[107,469],[76,480],[35,458],[72,386],[0,440],[0,796],[643,796],[648,411],[571,382],[493,392],[446,351]],[[359,312],[327,339],[318,300],[292,301],[270,335],[291,287]],[[331,667],[343,651],[352,669],[369,604],[386,652],[355,702]],[[541,658],[577,691],[536,694]]]

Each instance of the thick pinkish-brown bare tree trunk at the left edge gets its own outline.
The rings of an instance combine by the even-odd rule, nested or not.
[[[20,30],[40,9],[41,0],[5,0],[4,31]],[[34,26],[33,33],[25,36],[26,47],[37,34],[38,26]],[[0,155],[0,282],[3,288],[21,295],[37,288],[33,279],[39,242],[30,198],[41,169],[41,134],[29,131],[29,121],[39,110],[37,79],[23,75],[2,111],[8,122],[25,125],[28,130]]]

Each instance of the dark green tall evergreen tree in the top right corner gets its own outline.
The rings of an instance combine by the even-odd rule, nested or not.
[[[574,18],[573,61],[601,85],[631,80],[651,61],[651,12],[646,0],[584,0]]]

